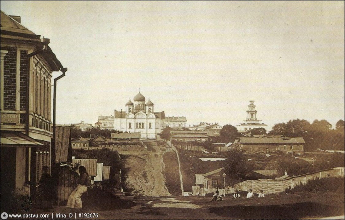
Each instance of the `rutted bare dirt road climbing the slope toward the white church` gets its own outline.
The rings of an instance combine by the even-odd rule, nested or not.
[[[131,154],[126,159],[127,187],[137,190],[138,194],[144,196],[172,196],[165,186],[162,158],[162,155],[171,149],[158,146],[155,141],[147,141],[145,144],[151,146],[154,151]]]

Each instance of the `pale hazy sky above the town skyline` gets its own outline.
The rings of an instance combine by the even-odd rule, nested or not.
[[[57,123],[138,93],[187,125],[344,120],[344,1],[1,1],[68,68]],[[53,73],[57,77],[61,72]]]

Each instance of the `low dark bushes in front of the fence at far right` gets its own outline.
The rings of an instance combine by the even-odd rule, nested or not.
[[[308,180],[306,184],[297,185],[295,192],[336,192],[344,194],[344,177],[316,178]]]

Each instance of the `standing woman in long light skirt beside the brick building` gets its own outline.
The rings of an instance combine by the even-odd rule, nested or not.
[[[90,186],[89,174],[86,172],[86,168],[83,166],[79,167],[79,179],[78,186],[68,197],[67,207],[71,209],[81,209],[81,195],[87,191],[87,187]]]

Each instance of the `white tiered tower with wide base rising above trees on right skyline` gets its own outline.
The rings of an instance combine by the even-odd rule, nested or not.
[[[250,130],[254,128],[267,128],[267,124],[262,123],[256,118],[257,111],[255,110],[254,101],[249,101],[247,110],[247,119],[244,120],[245,123],[236,126],[237,131],[245,135],[250,135]]]

